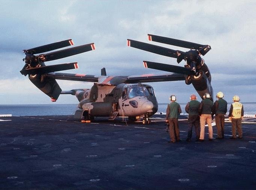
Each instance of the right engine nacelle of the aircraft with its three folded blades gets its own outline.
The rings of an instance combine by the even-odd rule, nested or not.
[[[127,45],[133,48],[142,49],[167,57],[177,58],[178,63],[180,63],[182,60],[187,61],[185,67],[155,63],[151,61],[143,61],[144,67],[164,70],[172,73],[184,74],[185,83],[192,83],[202,99],[205,93],[209,93],[211,95],[211,98],[213,97],[213,89],[211,86],[211,73],[207,65],[205,64],[205,61],[200,57],[200,55],[205,55],[211,49],[211,46],[177,40],[169,37],[156,36],[152,34],[148,34],[148,39],[154,42],[189,48],[190,51],[183,52],[179,50],[164,48],[157,45],[152,45],[149,43],[127,39]]]

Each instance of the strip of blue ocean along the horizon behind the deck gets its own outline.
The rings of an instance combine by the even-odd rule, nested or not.
[[[183,113],[187,103],[179,103]],[[230,104],[227,109],[229,111]],[[245,115],[256,114],[256,102],[242,103]],[[158,112],[166,112],[167,103],[158,104]],[[28,105],[0,105],[0,115],[36,116],[36,115],[74,115],[77,104],[28,104]]]

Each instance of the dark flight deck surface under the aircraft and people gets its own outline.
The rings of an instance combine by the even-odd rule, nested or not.
[[[123,118],[81,123],[72,116],[0,118],[0,189],[255,189],[256,118],[243,139],[169,143],[165,115],[149,125]],[[206,133],[207,133],[206,127]],[[217,137],[213,126],[214,138]]]

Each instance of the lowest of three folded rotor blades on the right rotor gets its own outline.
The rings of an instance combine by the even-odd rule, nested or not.
[[[144,64],[144,67],[150,68],[150,69],[164,70],[167,72],[179,73],[179,74],[185,74],[185,75],[191,74],[190,69],[185,67],[174,66],[174,65],[164,64],[164,63],[155,63],[151,61],[143,61],[143,64]]]

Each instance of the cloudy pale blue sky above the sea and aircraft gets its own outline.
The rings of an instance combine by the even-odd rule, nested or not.
[[[46,65],[78,62],[67,73],[140,75],[163,73],[143,67],[143,60],[178,65],[174,58],[128,47],[127,39],[149,42],[147,34],[211,45],[202,58],[212,76],[214,94],[232,102],[256,102],[256,1],[233,0],[0,0],[0,104],[47,104],[50,97],[21,75],[23,49],[72,39],[75,46],[95,43],[96,50]],[[171,45],[171,49],[188,51]],[[182,61],[179,66],[184,66]],[[92,82],[57,80],[62,90],[90,88]],[[177,102],[196,94],[184,81],[152,82],[158,103]],[[215,100],[215,97],[214,97]],[[79,103],[60,95],[56,103]]]

